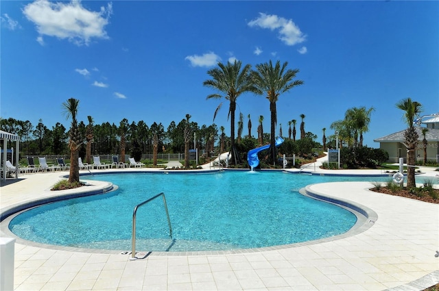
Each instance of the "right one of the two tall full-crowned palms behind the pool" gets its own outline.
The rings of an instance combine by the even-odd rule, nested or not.
[[[266,98],[270,101],[270,160],[273,164],[276,163],[276,123],[277,123],[277,111],[276,102],[279,95],[288,92],[290,89],[302,85],[302,80],[294,80],[298,69],[287,69],[288,62],[284,62],[281,66],[281,62],[277,61],[273,66],[272,61],[263,64],[257,64],[257,71],[252,71],[252,78],[254,84],[257,87],[257,93],[263,94],[265,92]]]

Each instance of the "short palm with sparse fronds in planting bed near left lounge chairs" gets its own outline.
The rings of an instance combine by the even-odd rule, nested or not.
[[[82,145],[83,138],[78,129],[78,121],[76,115],[78,114],[80,101],[78,99],[70,98],[62,103],[64,114],[66,118],[71,117],[71,127],[69,131],[69,149],[70,149],[70,173],[69,183],[79,183],[80,181],[80,166],[79,166],[79,149]]]

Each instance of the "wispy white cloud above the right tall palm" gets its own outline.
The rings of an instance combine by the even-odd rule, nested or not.
[[[250,27],[261,27],[279,32],[278,38],[285,42],[285,45],[296,45],[305,41],[305,34],[302,34],[300,28],[291,20],[277,15],[268,15],[259,13],[259,17],[247,23]]]

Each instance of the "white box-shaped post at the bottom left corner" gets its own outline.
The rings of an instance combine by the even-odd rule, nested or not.
[[[0,290],[14,290],[15,238],[0,238]]]

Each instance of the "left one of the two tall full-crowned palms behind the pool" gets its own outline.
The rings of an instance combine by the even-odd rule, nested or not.
[[[241,94],[245,92],[255,92],[256,89],[250,78],[251,65],[247,64],[241,69],[241,61],[235,60],[232,64],[227,62],[226,65],[218,62],[218,68],[213,68],[207,73],[212,77],[212,79],[203,82],[204,86],[211,87],[213,89],[219,90],[225,94],[224,98],[230,102],[228,108],[228,116],[230,116],[230,153],[232,155],[232,161],[235,164],[238,163],[239,156],[237,155],[237,149],[235,147],[235,110],[236,101]],[[207,99],[216,98],[221,99],[223,96],[221,94],[210,94]],[[221,108],[222,103],[220,103],[215,110],[213,115],[213,120],[215,121],[215,116],[218,110]]]

